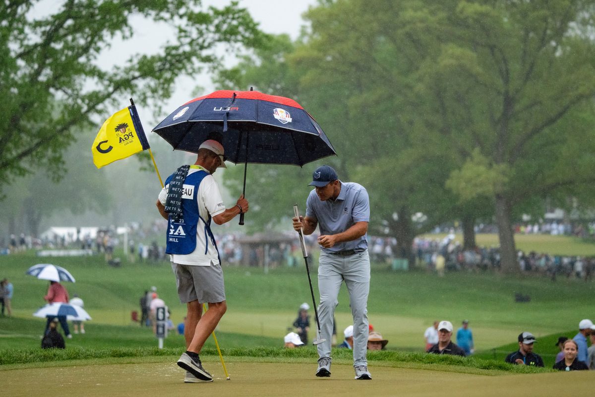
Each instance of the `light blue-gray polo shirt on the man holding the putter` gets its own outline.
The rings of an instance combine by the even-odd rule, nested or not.
[[[340,181],[339,181],[340,182]],[[341,182],[341,191],[335,201],[320,201],[316,189],[310,192],[306,200],[306,216],[318,220],[321,235],[336,235],[345,232],[356,222],[369,222],[370,202],[368,192],[359,183]],[[368,248],[367,234],[358,239],[337,243],[324,252],[363,251]]]

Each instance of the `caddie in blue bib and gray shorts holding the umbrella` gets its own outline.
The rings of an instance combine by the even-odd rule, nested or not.
[[[217,182],[212,176],[225,168],[223,146],[205,140],[194,165],[183,165],[165,181],[159,193],[159,214],[168,220],[167,246],[171,268],[176,275],[180,301],[187,305],[184,338],[186,352],[177,364],[186,370],[184,382],[211,382],[213,377],[202,367],[199,353],[227,310],[223,272],[211,219],[224,224],[248,212],[248,201],[240,196],[236,205],[226,208]],[[209,304],[202,314],[202,304]]]

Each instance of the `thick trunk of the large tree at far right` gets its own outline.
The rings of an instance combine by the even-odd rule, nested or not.
[[[496,195],[496,224],[500,240],[500,268],[504,273],[519,274],[515,236],[511,222],[511,204],[505,196]]]

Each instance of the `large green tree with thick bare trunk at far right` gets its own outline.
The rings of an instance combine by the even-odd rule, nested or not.
[[[427,11],[417,26],[440,51],[421,67],[420,89],[434,101],[417,116],[458,152],[457,195],[493,198],[503,268],[515,273],[515,208],[593,182],[593,142],[584,136],[595,94],[595,5],[450,1]],[[468,189],[481,180],[484,189]]]

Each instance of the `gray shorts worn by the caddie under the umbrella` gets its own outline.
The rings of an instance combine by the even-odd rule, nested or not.
[[[221,265],[194,266],[171,262],[176,275],[180,302],[185,304],[198,300],[199,303],[225,301],[225,285]]]

